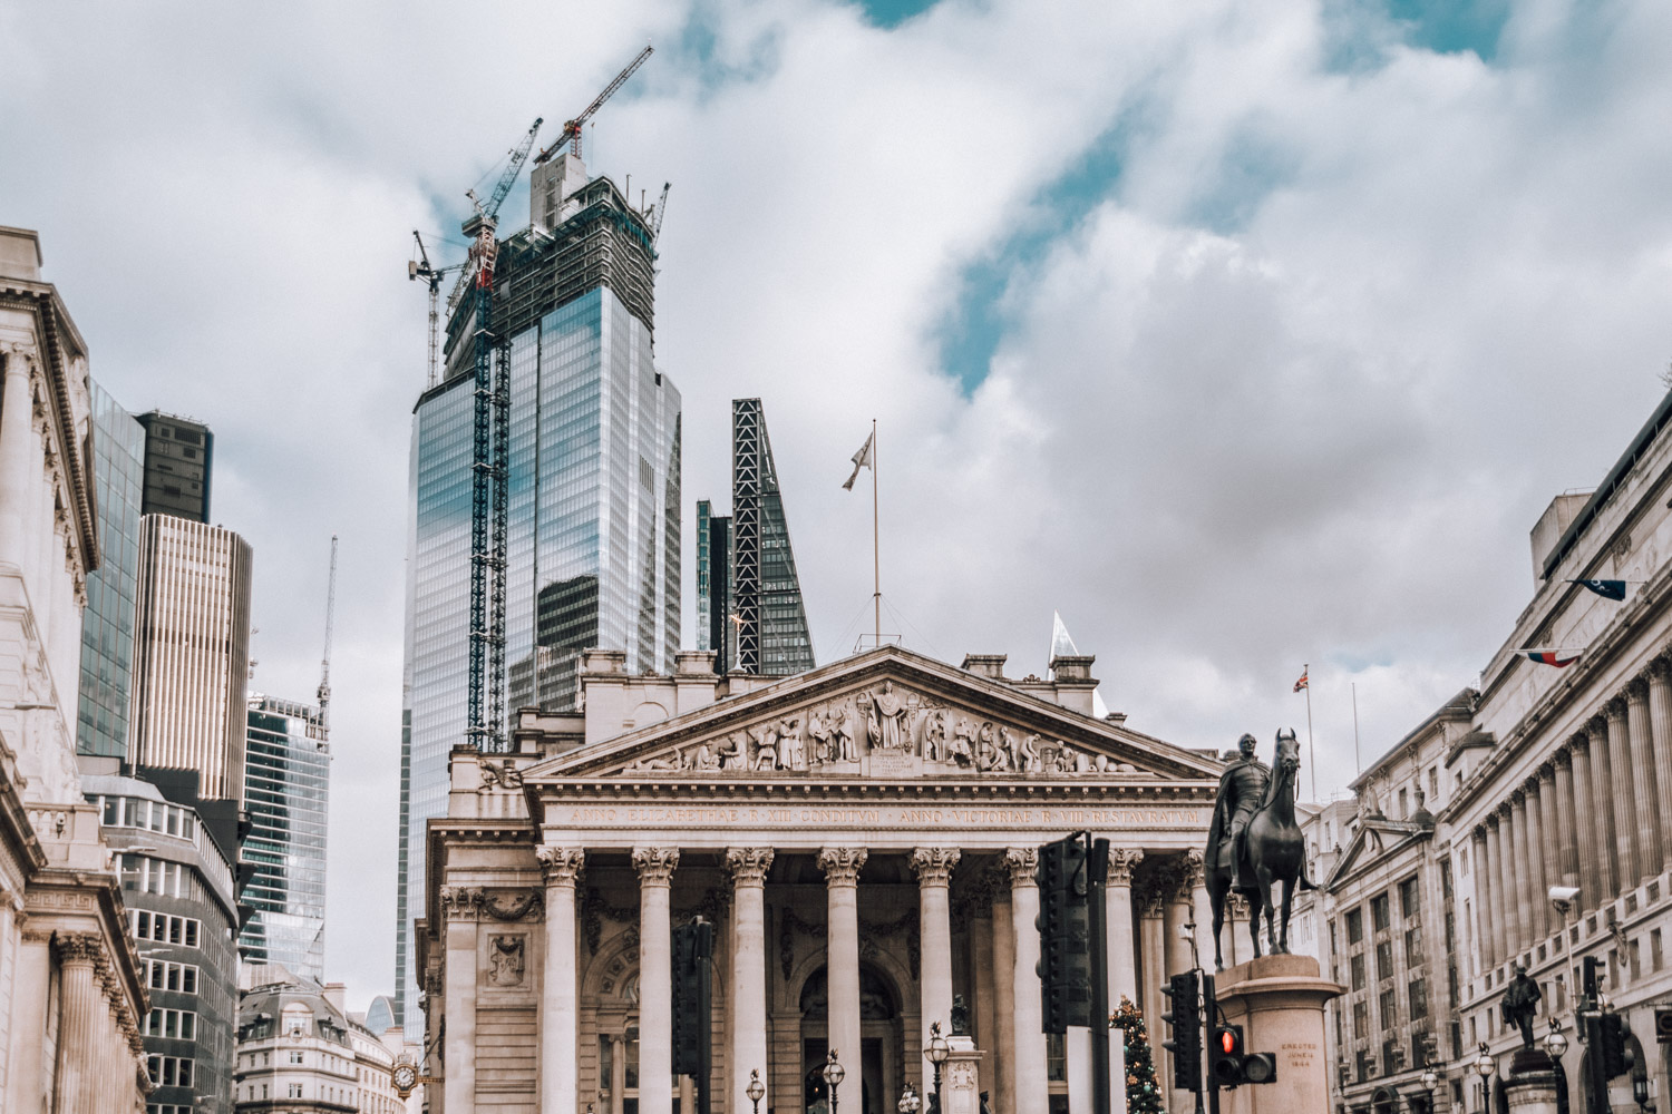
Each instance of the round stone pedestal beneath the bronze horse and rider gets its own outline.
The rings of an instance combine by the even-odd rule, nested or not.
[[[1242,1025],[1244,1052],[1277,1057],[1276,1082],[1221,1091],[1221,1114],[1331,1109],[1324,1002],[1346,987],[1323,979],[1311,955],[1262,955],[1219,972],[1216,989],[1226,1020]]]

